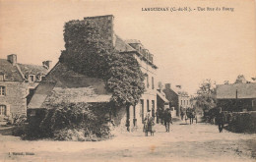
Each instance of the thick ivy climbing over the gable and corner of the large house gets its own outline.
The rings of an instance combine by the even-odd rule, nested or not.
[[[60,62],[88,77],[106,82],[116,105],[135,105],[144,92],[144,75],[131,54],[120,54],[101,38],[99,29],[90,21],[71,21],[65,25],[66,50]]]

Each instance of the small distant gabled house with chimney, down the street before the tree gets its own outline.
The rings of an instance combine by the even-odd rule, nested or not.
[[[181,85],[176,85],[171,87],[170,83],[165,83],[165,88],[163,89],[166,99],[169,101],[169,106],[174,107],[176,110],[176,116],[180,116],[181,108],[192,107],[190,102],[190,96],[184,90],[182,90]]]

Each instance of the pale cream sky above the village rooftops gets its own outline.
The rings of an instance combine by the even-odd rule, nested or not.
[[[148,7],[195,10],[142,11]],[[54,65],[64,50],[65,22],[113,15],[121,38],[139,39],[154,54],[160,81],[193,94],[205,79],[222,84],[256,77],[255,11],[254,0],[0,0],[0,58],[17,54],[19,63]]]

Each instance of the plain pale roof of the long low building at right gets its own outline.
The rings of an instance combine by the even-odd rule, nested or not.
[[[256,82],[217,85],[218,99],[256,98]]]

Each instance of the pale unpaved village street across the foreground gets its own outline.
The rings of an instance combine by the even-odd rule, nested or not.
[[[170,130],[165,133],[158,125],[155,136],[125,133],[95,142],[28,141],[0,135],[0,161],[255,161],[255,135],[225,130],[220,134],[217,126],[204,123],[177,122]]]

